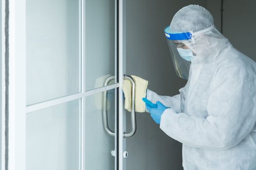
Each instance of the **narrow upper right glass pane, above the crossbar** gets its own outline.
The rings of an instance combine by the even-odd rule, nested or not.
[[[86,90],[115,75],[115,0],[85,0]]]

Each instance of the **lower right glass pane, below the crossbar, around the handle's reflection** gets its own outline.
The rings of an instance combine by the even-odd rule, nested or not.
[[[86,97],[85,170],[115,170],[115,137],[102,124],[102,93]],[[115,130],[115,89],[108,91],[108,123]]]

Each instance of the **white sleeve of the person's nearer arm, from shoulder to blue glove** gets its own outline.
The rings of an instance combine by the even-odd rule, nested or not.
[[[241,69],[229,73],[217,76],[213,82],[215,90],[209,97],[208,117],[166,109],[160,128],[191,147],[225,150],[236,146],[256,123],[256,78]]]

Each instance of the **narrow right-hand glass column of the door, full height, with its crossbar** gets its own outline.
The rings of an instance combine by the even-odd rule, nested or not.
[[[116,135],[108,134],[104,123],[116,132],[117,2],[84,2],[84,167],[85,170],[115,170]],[[106,82],[109,77],[112,79]]]

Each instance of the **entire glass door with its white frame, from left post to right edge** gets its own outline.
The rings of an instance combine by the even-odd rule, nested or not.
[[[9,10],[9,170],[122,170],[122,0]]]

